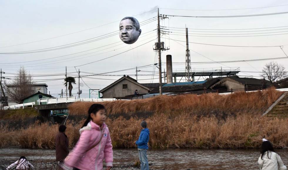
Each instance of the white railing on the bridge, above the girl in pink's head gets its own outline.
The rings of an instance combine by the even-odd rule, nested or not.
[[[103,102],[103,101],[114,101],[115,98],[78,98],[76,96],[70,97],[54,97],[54,98],[41,98],[38,99],[38,104],[54,104],[54,103],[71,103],[76,101],[91,101],[91,102]]]

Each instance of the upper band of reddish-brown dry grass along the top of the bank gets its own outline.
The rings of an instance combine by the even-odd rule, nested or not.
[[[129,114],[136,112],[153,113],[200,113],[207,115],[211,112],[235,113],[249,112],[262,113],[282,92],[266,90],[258,92],[238,92],[231,95],[208,93],[203,95],[186,94],[176,96],[157,96],[143,100],[102,102],[109,114]],[[71,114],[86,115],[93,102],[76,102],[69,106]]]

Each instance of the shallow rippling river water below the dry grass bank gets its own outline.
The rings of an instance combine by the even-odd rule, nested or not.
[[[285,165],[288,165],[286,149],[277,150]],[[207,169],[207,170],[258,170],[257,149],[150,149],[148,150],[149,162],[153,169]],[[20,156],[29,160],[42,159],[55,160],[55,150],[47,149],[0,149],[0,161],[13,163]],[[133,164],[138,161],[136,149],[113,149],[114,165],[121,166]],[[2,163],[3,164],[3,163]],[[1,165],[1,162],[0,162]]]

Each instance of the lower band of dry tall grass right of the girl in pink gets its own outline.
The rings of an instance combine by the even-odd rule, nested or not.
[[[173,118],[167,114],[154,115],[146,121],[153,148],[258,148],[263,136],[282,148],[288,144],[287,120],[242,114],[219,121],[215,116],[197,118],[182,113]],[[114,146],[134,147],[132,142],[140,133],[140,122],[134,118],[111,122]]]

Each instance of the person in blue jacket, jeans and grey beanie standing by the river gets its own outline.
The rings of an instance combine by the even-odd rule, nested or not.
[[[138,146],[141,170],[149,170],[147,150],[150,132],[145,121],[141,122],[140,125],[142,127],[142,131],[140,133],[139,139],[135,141],[135,144]]]

